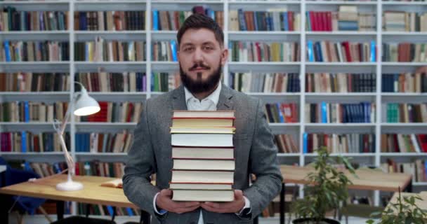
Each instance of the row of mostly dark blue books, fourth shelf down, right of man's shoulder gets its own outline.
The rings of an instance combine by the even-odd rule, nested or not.
[[[306,104],[306,123],[374,123],[376,106],[373,102],[339,104],[322,102]]]

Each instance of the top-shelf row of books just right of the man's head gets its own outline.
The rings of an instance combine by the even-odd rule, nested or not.
[[[228,21],[230,31],[298,31],[301,24],[300,14],[286,6],[265,11],[230,10]]]

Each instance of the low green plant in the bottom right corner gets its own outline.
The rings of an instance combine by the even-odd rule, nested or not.
[[[400,224],[414,223],[421,224],[427,221],[427,211],[420,209],[416,204],[416,200],[423,200],[421,197],[411,195],[409,197],[401,197],[400,188],[398,202],[391,202],[382,212],[371,214],[372,217],[380,217],[378,220],[368,220],[368,224]]]

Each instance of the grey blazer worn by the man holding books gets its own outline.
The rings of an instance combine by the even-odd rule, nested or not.
[[[222,85],[222,84],[221,84]],[[211,213],[202,209],[204,223],[252,223],[280,192],[282,175],[277,165],[277,148],[259,99],[237,92],[222,85],[218,110],[234,110],[236,133],[235,176],[233,189],[243,190],[251,202],[251,217],[235,214]],[[145,103],[131,149],[127,155],[123,176],[124,194],[140,209],[149,212],[160,223],[194,223],[199,219],[199,209],[186,214],[168,212],[155,214],[153,199],[161,189],[169,188],[171,181],[171,117],[173,110],[187,110],[184,87],[150,98]],[[156,186],[150,175],[156,173]],[[249,187],[249,174],[256,181]]]

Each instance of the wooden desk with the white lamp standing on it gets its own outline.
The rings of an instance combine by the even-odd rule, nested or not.
[[[56,185],[67,180],[67,175],[56,175],[44,179],[37,179],[35,182],[22,182],[12,186],[0,188],[0,194],[22,195],[28,197],[41,197],[50,200],[57,200],[58,219],[63,218],[64,201],[83,202],[88,204],[111,205],[113,207],[131,207],[138,209],[135,204],[129,202],[121,188],[108,188],[100,186],[105,181],[112,181],[115,178],[101,176],[74,176],[73,180],[83,183],[83,190],[60,191],[56,190]],[[2,208],[2,216],[9,208]],[[62,211],[62,214],[61,214]],[[145,212],[143,212],[144,215]],[[141,215],[141,218],[146,218]],[[7,222],[7,220],[6,220]],[[1,221],[0,223],[5,223]]]

